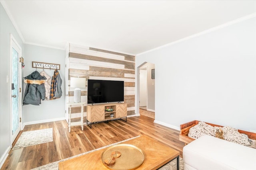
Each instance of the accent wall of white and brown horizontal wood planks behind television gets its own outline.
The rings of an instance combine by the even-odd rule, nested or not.
[[[127,115],[135,114],[135,56],[91,47],[70,44],[68,80],[70,77],[86,78],[86,88],[81,89],[81,100],[87,102],[87,80],[124,81],[124,103]],[[74,101],[74,88],[68,90],[70,102]],[[80,107],[72,107],[72,122],[80,116]],[[86,107],[84,107],[86,111]],[[84,114],[86,116],[86,113]]]

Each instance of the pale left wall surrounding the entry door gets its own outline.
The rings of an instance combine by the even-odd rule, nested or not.
[[[14,36],[20,47],[23,42],[2,4],[0,4],[0,164],[4,162],[10,149],[10,33]],[[23,52],[22,52],[23,53]]]

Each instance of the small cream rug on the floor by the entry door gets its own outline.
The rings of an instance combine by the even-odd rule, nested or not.
[[[20,138],[18,139],[12,150],[52,141],[52,128],[40,129],[35,131],[25,131],[22,132]]]

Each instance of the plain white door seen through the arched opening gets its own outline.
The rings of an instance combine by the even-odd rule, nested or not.
[[[140,69],[140,107],[147,106],[147,69]]]

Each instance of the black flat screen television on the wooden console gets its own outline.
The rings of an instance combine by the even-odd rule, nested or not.
[[[124,81],[88,79],[87,103],[124,102]]]

